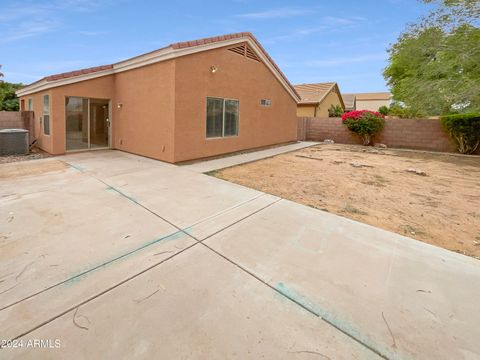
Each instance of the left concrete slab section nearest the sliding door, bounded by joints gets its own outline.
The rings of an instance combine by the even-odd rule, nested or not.
[[[47,183],[17,178],[14,193],[0,185],[0,308],[178,231],[73,168]]]

